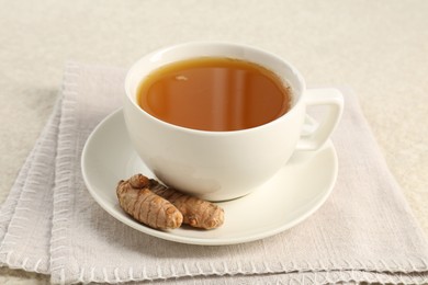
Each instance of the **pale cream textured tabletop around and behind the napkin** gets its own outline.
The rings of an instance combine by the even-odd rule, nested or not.
[[[0,203],[52,112],[67,60],[127,68],[158,47],[213,39],[273,52],[308,86],[351,88],[428,236],[428,1],[0,0]],[[48,277],[0,269],[0,283]]]

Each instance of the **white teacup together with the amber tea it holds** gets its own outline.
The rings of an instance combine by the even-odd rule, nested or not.
[[[300,72],[266,50],[188,43],[137,60],[125,80],[129,139],[166,185],[209,201],[244,196],[294,151],[316,151],[336,128],[342,95],[306,90]],[[306,106],[326,116],[302,135]]]

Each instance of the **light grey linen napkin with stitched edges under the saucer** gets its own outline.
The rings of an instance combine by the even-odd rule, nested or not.
[[[95,125],[120,107],[124,75],[67,65],[54,113],[0,209],[1,265],[50,274],[54,284],[428,282],[427,240],[349,90],[333,138],[337,183],[299,226],[254,242],[201,247],[115,220],[89,195],[80,156]]]

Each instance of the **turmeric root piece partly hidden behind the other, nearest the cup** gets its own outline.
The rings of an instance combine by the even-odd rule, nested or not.
[[[223,208],[213,203],[164,186],[143,174],[133,175],[129,178],[129,183],[139,189],[148,187],[153,193],[168,200],[183,215],[183,224],[195,228],[213,229],[224,223]]]

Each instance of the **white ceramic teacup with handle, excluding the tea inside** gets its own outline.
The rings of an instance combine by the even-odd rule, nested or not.
[[[138,106],[137,88],[147,75],[167,64],[204,56],[243,59],[270,69],[292,88],[291,110],[254,128],[206,132],[162,122]],[[282,58],[227,43],[188,43],[150,53],[128,70],[125,91],[126,127],[145,164],[165,184],[209,201],[244,196],[272,178],[294,151],[323,147],[343,105],[336,89],[306,90],[301,73]],[[302,135],[308,105],[324,105],[326,115],[313,133]]]

